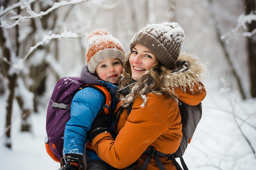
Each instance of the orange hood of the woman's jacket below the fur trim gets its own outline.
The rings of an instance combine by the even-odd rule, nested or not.
[[[188,105],[198,105],[206,96],[205,86],[202,83],[195,84],[192,89],[188,88],[185,92],[177,87],[174,92],[179,96],[179,100]]]

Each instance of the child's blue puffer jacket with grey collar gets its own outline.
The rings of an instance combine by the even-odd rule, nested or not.
[[[115,92],[118,86],[98,80],[96,75],[89,73],[87,65],[82,70],[81,80],[85,84],[103,85],[106,87],[111,94],[111,108],[113,110],[116,108]],[[104,96],[102,93],[92,87],[86,87],[76,93],[71,105],[71,119],[67,122],[64,131],[63,155],[83,155],[87,132],[91,129],[92,122],[101,110],[103,102]],[[114,135],[115,132],[112,131],[112,134]],[[101,160],[94,151],[87,150],[86,153],[90,160]]]

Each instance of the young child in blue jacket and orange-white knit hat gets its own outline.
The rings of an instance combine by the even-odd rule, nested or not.
[[[87,36],[87,65],[81,73],[85,84],[103,85],[112,99],[111,109],[116,107],[116,84],[123,72],[124,51],[122,43],[107,30],[93,30]],[[71,119],[64,131],[64,149],[61,170],[80,170],[82,156],[92,122],[102,108],[104,96],[92,87],[76,93],[71,105]],[[102,161],[93,150],[86,150],[87,170],[94,168],[109,170],[110,165]],[[97,166],[97,167],[96,167]]]

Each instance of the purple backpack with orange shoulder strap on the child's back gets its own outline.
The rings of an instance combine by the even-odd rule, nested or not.
[[[71,103],[77,91],[85,87],[92,87],[105,97],[104,112],[108,114],[111,95],[108,90],[101,85],[85,85],[80,77],[64,77],[59,80],[51,95],[46,115],[46,150],[53,160],[60,162],[63,151],[63,135],[65,125],[70,120]],[[108,101],[108,102],[107,102]],[[108,104],[108,106],[106,106]]]

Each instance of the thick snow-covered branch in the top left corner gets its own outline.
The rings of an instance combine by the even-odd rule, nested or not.
[[[34,1],[36,1],[36,0],[34,0]],[[38,17],[42,17],[42,16],[44,16],[44,15],[49,14],[51,11],[56,10],[57,8],[60,8],[60,7],[62,7],[62,6],[75,5],[75,4],[79,4],[79,3],[82,3],[82,2],[86,2],[86,1],[90,1],[90,0],[71,0],[71,1],[69,1],[69,2],[62,0],[61,2],[55,2],[55,3],[51,6],[51,8],[49,8],[49,9],[46,10],[46,11],[41,11],[41,12],[38,13],[38,14],[31,10],[29,3],[26,3],[26,5],[25,5],[25,4],[22,3],[22,1],[21,1],[21,2],[19,2],[19,3],[21,3],[23,6],[26,7],[29,16],[22,16],[22,15],[15,15],[15,16],[12,16],[12,17],[10,17],[10,20],[15,20],[15,22],[14,22],[13,24],[9,25],[9,24],[7,23],[7,21],[2,21],[0,26],[1,26],[4,30],[9,30],[9,29],[13,28],[14,26],[20,24],[20,23],[23,22],[23,21],[31,20],[31,19],[38,18]],[[16,7],[18,7],[18,6],[20,5],[19,3],[16,3],[16,4],[18,4],[18,5],[16,5],[16,4],[14,4],[14,5],[15,5]],[[13,6],[13,5],[12,5],[12,6]],[[14,6],[14,7],[12,7],[12,6],[11,6],[11,8],[10,8],[9,10],[15,8],[15,6]],[[9,11],[9,10],[8,10],[8,11]],[[4,10],[4,11],[5,11],[5,10]],[[6,13],[6,11],[5,11],[5,13]],[[4,15],[5,13],[3,13],[3,14],[1,13],[1,14]],[[0,15],[0,16],[1,16],[1,15]]]

